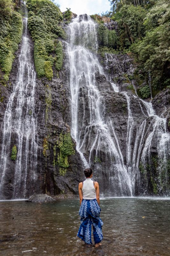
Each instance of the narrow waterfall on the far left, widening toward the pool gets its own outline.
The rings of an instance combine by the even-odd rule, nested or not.
[[[25,6],[26,10],[26,6]],[[27,16],[27,13],[26,13]],[[28,36],[27,17],[23,19],[24,32],[19,55],[19,68],[13,92],[9,98],[3,122],[3,142],[0,162],[0,197],[25,198],[27,179],[36,181],[37,138],[35,116],[35,78],[31,42]],[[16,145],[17,157],[11,167],[11,150]],[[15,166],[15,167],[13,167]],[[9,170],[14,168],[9,181]],[[10,182],[12,195],[4,195]]]

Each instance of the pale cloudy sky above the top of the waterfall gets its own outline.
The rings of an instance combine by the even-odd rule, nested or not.
[[[110,10],[109,0],[54,0],[54,2],[60,5],[61,12],[65,12],[66,8],[71,8],[71,12],[77,15],[99,14]]]

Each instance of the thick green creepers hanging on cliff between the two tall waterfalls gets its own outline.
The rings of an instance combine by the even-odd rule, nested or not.
[[[49,0],[27,0],[27,6],[29,31],[35,41],[34,62],[38,78],[46,76],[51,80],[54,62],[58,71],[63,62],[62,43],[54,45],[59,36],[66,39],[66,34],[61,28],[63,17],[58,6]]]

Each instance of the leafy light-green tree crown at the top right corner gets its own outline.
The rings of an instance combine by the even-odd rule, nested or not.
[[[170,68],[170,8],[165,0],[159,0],[148,12],[144,25],[146,36],[131,47],[138,56],[145,78],[150,73],[152,90],[169,85]]]

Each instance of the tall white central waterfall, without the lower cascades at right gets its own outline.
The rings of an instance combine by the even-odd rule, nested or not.
[[[94,52],[90,51],[97,50],[96,24],[87,15],[81,15],[70,23],[68,30],[71,132],[76,141],[76,149],[80,153],[84,167],[90,166],[94,158],[100,162],[100,157],[104,157],[106,162],[110,163],[107,166],[109,180],[106,179],[110,190],[115,195],[131,196],[130,176],[124,165],[114,127],[110,120],[107,123],[104,121],[104,99],[96,84],[96,73],[103,74],[99,60]],[[85,151],[89,151],[88,157],[84,156]],[[100,152],[103,152],[103,156],[100,156]],[[102,168],[98,171],[101,178]]]

